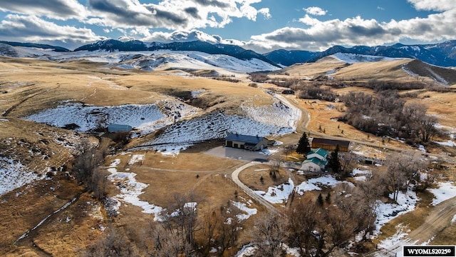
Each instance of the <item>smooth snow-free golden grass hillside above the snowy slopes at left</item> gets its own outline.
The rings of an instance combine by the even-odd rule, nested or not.
[[[56,64],[32,59],[0,59],[0,111],[16,106],[9,116],[26,116],[55,107],[60,101],[82,101],[97,106],[152,104],[174,91],[205,89],[199,96],[217,108],[237,111],[242,104],[266,105],[272,98],[248,83],[230,83],[162,72],[117,71],[89,61]],[[27,99],[24,101],[24,99]]]

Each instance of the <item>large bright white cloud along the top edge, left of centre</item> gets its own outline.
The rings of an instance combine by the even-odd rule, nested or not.
[[[166,29],[222,28],[233,18],[269,18],[269,9],[256,9],[261,0],[162,0],[142,4],[139,0],[88,0],[88,24],[107,27]]]

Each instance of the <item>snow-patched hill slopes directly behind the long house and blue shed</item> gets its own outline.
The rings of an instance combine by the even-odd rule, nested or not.
[[[276,99],[270,106],[241,106],[239,114],[223,112],[204,114],[202,110],[175,99],[155,104],[123,106],[86,106],[66,103],[24,117],[51,126],[71,127],[76,131],[94,131],[108,124],[128,124],[136,135],[165,128],[152,141],[142,143],[157,150],[180,150],[193,143],[223,138],[229,133],[254,136],[282,135],[296,130],[301,111]],[[194,118],[192,118],[194,117]],[[192,118],[192,119],[191,119]],[[76,124],[77,126],[75,126]]]

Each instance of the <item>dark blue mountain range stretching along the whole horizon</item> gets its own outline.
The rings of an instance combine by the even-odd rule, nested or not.
[[[63,47],[44,44],[7,41],[0,41],[0,44],[50,49],[53,51],[70,51]],[[391,46],[353,46],[351,48],[333,46],[326,51],[288,51],[279,49],[266,54],[258,54],[255,51],[244,49],[241,46],[210,44],[205,41],[145,43],[137,40],[124,42],[115,39],[107,39],[93,44],[86,44],[74,51],[156,51],[163,49],[172,51],[200,51],[206,54],[224,54],[241,60],[259,59],[277,67],[291,66],[297,63],[315,62],[323,57],[337,53],[420,59],[421,61],[435,66],[456,66],[456,40],[437,44],[393,44]]]

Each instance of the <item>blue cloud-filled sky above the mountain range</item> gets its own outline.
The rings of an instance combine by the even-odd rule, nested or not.
[[[0,0],[0,40],[202,40],[266,53],[456,39],[456,0]]]

